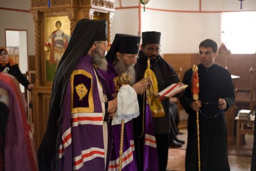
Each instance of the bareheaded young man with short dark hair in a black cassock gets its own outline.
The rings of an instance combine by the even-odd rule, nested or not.
[[[199,111],[201,170],[230,170],[227,156],[227,129],[224,112],[233,105],[234,87],[228,70],[217,65],[218,45],[206,39],[199,45],[199,100],[193,100],[191,89],[180,98],[186,113],[186,170],[198,170],[196,111]],[[183,83],[191,87],[193,70],[184,74]]]

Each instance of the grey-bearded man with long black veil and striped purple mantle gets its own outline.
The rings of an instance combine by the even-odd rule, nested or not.
[[[108,170],[112,138],[106,69],[106,20],[78,21],[53,81],[48,125],[37,152],[40,170]]]

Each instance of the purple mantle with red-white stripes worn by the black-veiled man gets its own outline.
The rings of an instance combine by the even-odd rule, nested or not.
[[[100,82],[103,89],[105,84],[101,74],[95,73],[92,59],[87,55],[71,74],[62,106],[59,170],[106,170],[108,167],[111,141],[106,151],[102,126],[105,109],[97,83]],[[111,133],[109,140],[110,137]]]

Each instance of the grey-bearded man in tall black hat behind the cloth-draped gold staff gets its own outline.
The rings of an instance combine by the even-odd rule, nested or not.
[[[136,63],[138,57],[137,55],[139,50],[140,38],[140,36],[116,34],[113,44],[108,54],[106,54],[106,59],[108,60],[108,70],[106,72],[102,72],[102,74],[104,75],[106,80],[109,81],[111,93],[113,96],[117,95],[119,88],[122,86],[118,82],[119,76],[122,73],[130,75],[130,85],[133,87],[137,94],[142,94],[148,87],[148,84],[151,83],[150,80],[143,80],[135,83],[136,76],[134,64]],[[127,108],[132,108],[132,106],[127,106]],[[137,117],[137,115],[134,117]],[[119,167],[119,149],[121,135],[121,122],[117,114],[113,118],[112,128],[114,142],[109,170],[116,170]],[[134,151],[132,117],[125,119],[122,158],[122,170],[138,170],[136,153]]]

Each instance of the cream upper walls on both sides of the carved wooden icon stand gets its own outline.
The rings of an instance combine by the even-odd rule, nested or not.
[[[3,8],[31,7],[30,0],[0,2]],[[145,12],[142,5],[139,9],[139,0],[116,0],[115,7],[112,40],[116,33],[138,35],[140,31],[154,30],[162,33],[161,53],[197,53],[199,43],[205,38],[221,44],[222,11],[256,11],[256,0],[244,1],[242,10],[237,0],[150,0]],[[32,14],[0,9],[0,16],[0,46],[5,46],[5,29],[28,30],[28,55],[34,55]]]

